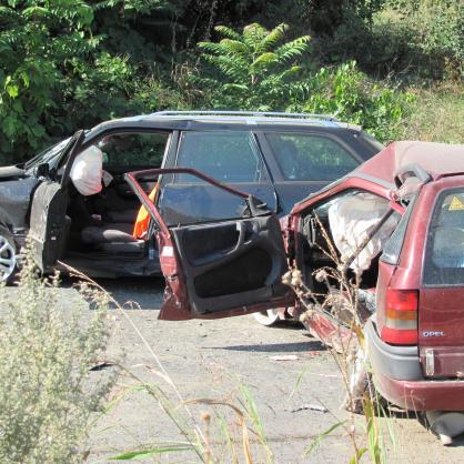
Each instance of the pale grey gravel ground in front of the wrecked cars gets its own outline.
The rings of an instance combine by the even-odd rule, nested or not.
[[[251,392],[261,417],[264,436],[275,463],[346,463],[352,456],[350,440],[342,427],[322,441],[309,456],[305,447],[322,432],[347,417],[340,410],[343,383],[330,353],[300,325],[264,327],[252,316],[200,322],[158,321],[162,281],[101,281],[121,303],[132,300],[140,309],[127,312],[158,360],[176,385],[183,400],[214,399],[233,403],[243,410],[239,391],[245,385]],[[4,291],[14,293],[16,289]],[[79,294],[68,284],[60,290],[63,311],[80,304],[90,312]],[[145,383],[157,383],[178,405],[173,389],[160,375],[160,366],[131,323],[114,312],[114,331],[108,360],[122,360],[124,366]],[[275,356],[293,355],[290,361],[276,361]],[[112,367],[110,367],[112,369]],[[104,371],[92,372],[97,380]],[[134,380],[122,375],[113,392],[117,395]],[[323,405],[329,412],[302,410],[304,404]],[[189,427],[199,424],[208,434],[202,420],[205,412],[212,414],[209,433],[212,448],[219,462],[233,462],[232,447],[221,445],[224,433],[216,430],[216,411],[226,418],[231,433],[238,438],[233,448],[241,455],[240,427],[228,406],[190,405],[191,417],[180,406],[179,414],[186,417]],[[203,415],[204,418],[204,415]],[[360,424],[363,418],[359,417]],[[445,448],[414,417],[402,414],[389,421],[394,441],[386,438],[389,463],[462,463],[464,440]],[[386,431],[386,423],[383,422]],[[385,432],[385,435],[387,433]],[[250,433],[253,462],[266,462],[266,454],[259,438]],[[152,446],[157,441],[184,440],[173,421],[162,411],[159,402],[141,391],[130,391],[98,421],[92,437],[89,462],[109,462],[110,456],[122,451]],[[163,463],[192,463],[194,454],[171,454],[159,458]],[[112,461],[114,462],[114,461]],[[144,460],[142,462],[152,462]],[[369,462],[367,456],[363,462]]]

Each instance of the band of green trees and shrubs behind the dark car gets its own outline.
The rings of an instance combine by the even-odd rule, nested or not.
[[[394,131],[374,129],[380,117],[373,114],[383,114],[382,128],[389,118],[399,125],[404,111],[397,104],[405,103],[395,79],[462,81],[463,6],[1,0],[1,162],[31,158],[75,129],[164,108],[319,108],[367,121],[389,139]],[[341,69],[353,60],[343,81]],[[334,90],[341,80],[343,98]]]

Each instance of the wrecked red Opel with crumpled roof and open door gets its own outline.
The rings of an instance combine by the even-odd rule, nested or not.
[[[139,184],[153,174],[161,175],[154,203]],[[302,311],[282,275],[297,266],[319,290],[314,271],[333,265],[321,252],[322,224],[342,260],[363,241],[349,262],[375,295],[365,333],[381,394],[407,410],[464,410],[464,145],[392,143],[281,221],[255,196],[194,170],[127,180],[158,231],[167,282],[160,319]],[[182,184],[202,195],[201,214],[170,201]]]

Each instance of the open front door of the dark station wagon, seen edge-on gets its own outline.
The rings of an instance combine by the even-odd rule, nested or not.
[[[83,139],[84,131],[74,133],[60,155],[61,175],[47,169],[42,182],[33,192],[29,239],[36,264],[46,273],[53,270],[65,246],[69,198],[65,186],[72,162]]]

